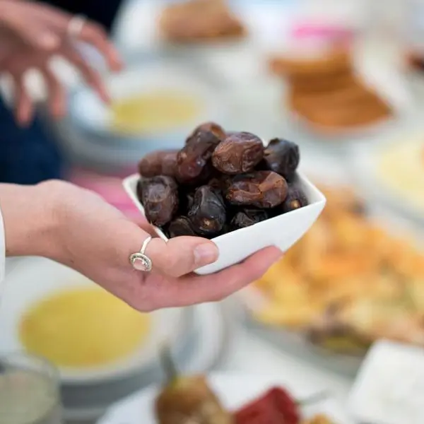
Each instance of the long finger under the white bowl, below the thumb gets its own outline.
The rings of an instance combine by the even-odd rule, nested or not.
[[[255,281],[281,259],[282,252],[276,247],[266,247],[247,258],[241,264],[208,276],[187,276],[172,283],[163,291],[164,306],[187,306],[203,302],[214,302],[227,298],[232,293]],[[174,291],[175,290],[175,291]]]

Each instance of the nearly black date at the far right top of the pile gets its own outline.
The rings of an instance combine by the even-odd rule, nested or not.
[[[300,161],[299,147],[291,141],[273,139],[266,146],[264,160],[269,170],[292,179]]]

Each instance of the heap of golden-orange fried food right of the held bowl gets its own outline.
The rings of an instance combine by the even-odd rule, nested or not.
[[[367,218],[349,189],[323,189],[317,223],[256,287],[264,324],[305,331],[336,351],[379,338],[424,346],[424,254]]]

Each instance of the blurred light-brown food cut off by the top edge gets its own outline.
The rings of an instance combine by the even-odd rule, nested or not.
[[[245,25],[223,0],[188,0],[166,6],[160,16],[160,33],[171,42],[192,43],[239,38]]]

